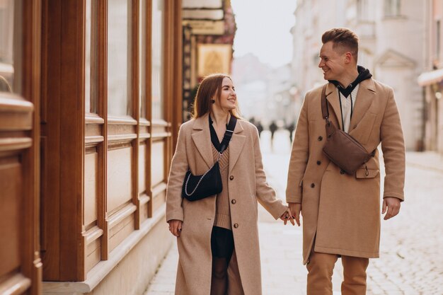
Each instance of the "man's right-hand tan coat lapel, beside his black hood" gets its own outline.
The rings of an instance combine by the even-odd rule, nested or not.
[[[357,98],[355,100],[354,110],[352,112],[351,124],[349,132],[355,129],[357,124],[362,120],[364,114],[366,114],[369,106],[371,106],[374,100],[375,87],[372,79],[364,80],[360,83]]]

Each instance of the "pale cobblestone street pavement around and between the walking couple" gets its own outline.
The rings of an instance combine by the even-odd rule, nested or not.
[[[287,132],[275,134],[274,149],[268,132],[262,135],[268,180],[284,199],[290,151]],[[443,295],[443,158],[408,153],[406,161],[405,202],[398,216],[382,220],[380,258],[370,260],[367,270],[368,295]],[[260,207],[259,231],[263,295],[306,294],[301,229],[282,226]],[[177,260],[173,245],[144,295],[174,293]],[[339,260],[333,275],[334,295],[340,294],[342,272]]]

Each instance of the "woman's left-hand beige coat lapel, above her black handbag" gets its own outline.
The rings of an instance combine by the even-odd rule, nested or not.
[[[192,133],[192,140],[194,141],[197,150],[205,160],[207,167],[214,165],[214,158],[212,158],[211,149],[211,134],[209,132],[209,118],[208,115],[195,119],[194,123],[195,133]]]

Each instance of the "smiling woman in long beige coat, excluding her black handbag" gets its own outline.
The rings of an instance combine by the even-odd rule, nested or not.
[[[231,116],[234,134],[219,160],[223,190],[195,202],[182,199],[188,169],[202,175],[217,160]],[[267,185],[258,132],[238,115],[229,76],[207,76],[197,91],[192,120],[180,127],[166,192],[166,220],[178,237],[178,295],[260,295],[257,202],[275,219],[292,214]]]

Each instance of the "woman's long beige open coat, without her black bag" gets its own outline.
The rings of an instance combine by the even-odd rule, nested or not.
[[[214,163],[208,115],[180,127],[176,153],[166,192],[166,220],[183,221],[178,238],[176,294],[208,295],[211,286],[211,232],[215,197],[196,202],[182,199],[185,173],[202,175]],[[257,202],[275,219],[287,209],[267,185],[258,132],[249,122],[238,120],[229,143],[229,199],[238,270],[246,295],[261,294]],[[231,202],[236,199],[235,204]]]

